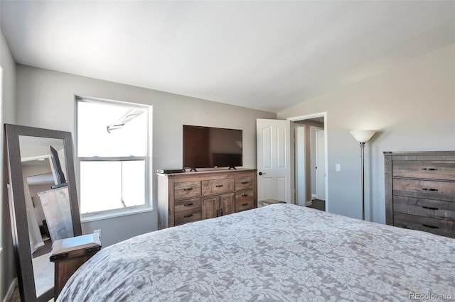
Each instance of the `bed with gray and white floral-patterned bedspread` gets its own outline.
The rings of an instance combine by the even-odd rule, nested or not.
[[[445,295],[445,296],[444,296]],[[455,298],[455,240],[290,204],[104,248],[58,301]]]

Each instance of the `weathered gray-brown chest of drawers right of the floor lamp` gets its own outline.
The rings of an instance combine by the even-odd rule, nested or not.
[[[455,238],[455,151],[384,152],[385,222]]]

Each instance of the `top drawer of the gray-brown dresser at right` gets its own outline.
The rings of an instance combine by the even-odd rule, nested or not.
[[[455,162],[394,160],[392,173],[394,177],[455,180]]]

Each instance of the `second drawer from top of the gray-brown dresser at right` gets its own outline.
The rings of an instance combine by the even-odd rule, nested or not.
[[[393,179],[393,195],[455,201],[455,182]]]

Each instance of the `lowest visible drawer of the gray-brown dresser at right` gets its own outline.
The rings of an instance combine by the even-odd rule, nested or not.
[[[403,213],[394,213],[393,225],[400,228],[423,230],[425,232],[455,238],[455,222],[415,216]]]

